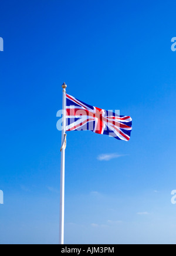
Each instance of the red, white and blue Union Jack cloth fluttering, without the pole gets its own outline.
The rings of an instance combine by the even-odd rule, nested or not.
[[[129,140],[132,119],[87,105],[66,94],[66,131],[90,130],[118,140]]]

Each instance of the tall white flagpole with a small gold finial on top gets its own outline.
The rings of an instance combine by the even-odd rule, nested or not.
[[[60,168],[60,220],[59,220],[59,244],[64,243],[64,203],[65,203],[65,148],[66,148],[66,87],[63,83],[63,127],[62,127],[62,147],[61,168]]]

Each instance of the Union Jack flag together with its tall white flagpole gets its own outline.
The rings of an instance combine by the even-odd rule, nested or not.
[[[66,132],[90,130],[94,133],[107,134],[118,140],[129,140],[132,119],[130,116],[121,116],[119,111],[99,109],[67,95],[67,85],[63,83],[62,101],[62,146],[60,164],[60,219],[59,244],[64,243],[64,211],[65,211],[65,149]]]

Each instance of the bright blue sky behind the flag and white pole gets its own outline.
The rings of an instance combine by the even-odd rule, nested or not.
[[[65,243],[176,243],[175,8],[1,1],[0,244],[59,241],[64,81],[77,99],[133,118],[129,142],[67,134]]]

